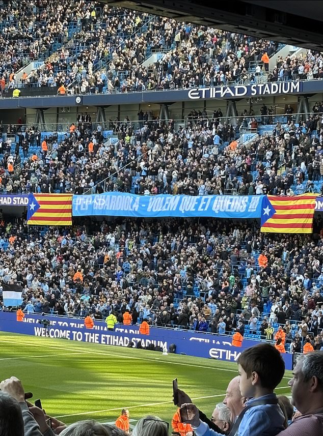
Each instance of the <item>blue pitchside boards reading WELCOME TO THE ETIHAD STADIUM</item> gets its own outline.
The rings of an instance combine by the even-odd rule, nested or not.
[[[45,329],[37,321],[43,319],[40,315],[25,314],[23,321],[16,321],[16,313],[0,312],[0,331],[22,333],[32,336],[45,336]],[[139,326],[123,326],[116,324],[115,331],[109,331],[102,321],[94,321],[93,329],[86,329],[84,319],[67,318],[62,316],[46,316],[50,321],[49,337],[64,338],[72,341],[97,343],[101,345],[128,346],[132,341],[136,346],[138,342],[142,346],[151,343],[167,348],[170,344],[176,345],[176,353],[185,353],[190,356],[213,358],[236,362],[245,348],[256,345],[257,341],[243,340],[241,347],[231,345],[230,336],[199,333],[192,330],[173,330],[151,327],[149,335],[141,335]],[[292,355],[283,354],[286,369],[292,369]]]

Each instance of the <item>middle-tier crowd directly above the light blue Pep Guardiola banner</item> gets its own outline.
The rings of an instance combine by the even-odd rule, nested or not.
[[[91,116],[79,114],[65,135],[42,136],[34,126],[0,140],[4,192],[82,194],[125,191],[138,194],[278,194],[320,192],[323,176],[323,104],[315,103],[306,121],[295,125],[288,105],[286,124],[274,125],[272,135],[248,143],[236,139],[245,128],[257,129],[253,110],[241,113],[233,127],[220,109],[211,116],[193,109],[187,123],[161,121],[138,112],[138,121],[116,119],[110,127],[118,141],[104,139]],[[262,120],[273,122],[264,104]],[[21,153],[22,152],[22,153]],[[104,181],[104,183],[102,183]]]

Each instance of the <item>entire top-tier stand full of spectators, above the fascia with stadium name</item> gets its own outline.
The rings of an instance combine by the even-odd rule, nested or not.
[[[64,8],[60,6],[53,14],[57,4],[46,2],[47,9],[42,8],[42,2],[29,5],[25,22],[18,19],[14,7],[6,16],[5,43],[12,40],[15,22],[21,21],[26,34],[21,36],[22,47],[10,47],[15,71],[34,59],[44,64],[23,76],[10,77],[10,81],[9,71],[4,71],[4,91],[16,85],[29,88],[64,84],[68,93],[95,94],[244,83],[249,74],[258,76],[267,71],[262,62],[264,53],[270,57],[281,48],[272,41],[170,18],[157,19],[107,5],[101,9],[98,2],[82,2],[80,8],[79,2],[65,2]],[[39,28],[28,19],[33,14],[44,19],[37,22]],[[64,20],[68,18],[66,28]],[[43,35],[42,27],[51,28],[56,20],[62,21],[61,27],[52,26],[52,34]],[[30,43],[31,32],[39,41]]]

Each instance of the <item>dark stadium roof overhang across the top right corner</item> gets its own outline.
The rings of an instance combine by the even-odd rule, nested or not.
[[[101,3],[323,51],[323,2],[101,0]]]

